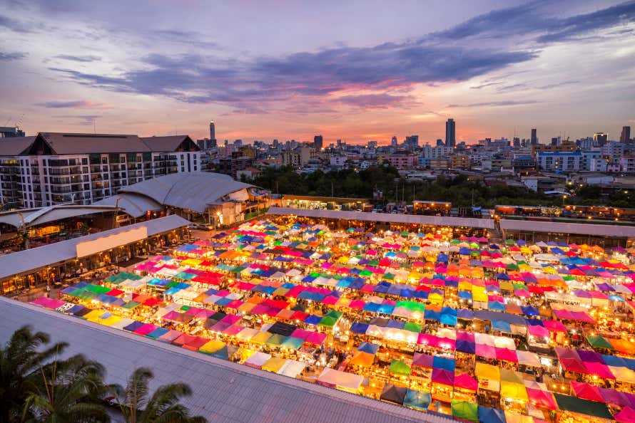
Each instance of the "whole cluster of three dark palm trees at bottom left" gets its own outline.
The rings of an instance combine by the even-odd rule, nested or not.
[[[140,367],[125,387],[108,385],[106,369],[83,355],[62,359],[67,343],[24,326],[0,345],[0,422],[108,423],[107,403],[126,423],[203,423],[180,403],[192,394],[183,383],[149,390],[151,370]]]

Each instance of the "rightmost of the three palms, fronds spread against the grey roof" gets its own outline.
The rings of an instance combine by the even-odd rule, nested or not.
[[[148,383],[153,378],[150,369],[140,367],[128,379],[126,389],[111,385],[116,402],[126,423],[204,423],[204,417],[190,417],[186,406],[179,404],[182,397],[192,395],[191,388],[183,383],[161,385],[150,395]]]

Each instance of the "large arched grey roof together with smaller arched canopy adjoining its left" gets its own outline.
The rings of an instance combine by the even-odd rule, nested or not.
[[[243,189],[255,188],[250,184],[236,182],[227,174],[212,172],[173,173],[119,189],[116,196],[95,204],[114,206],[117,204],[126,213],[138,217],[147,210],[163,206],[178,207],[203,213],[210,204],[240,199]]]

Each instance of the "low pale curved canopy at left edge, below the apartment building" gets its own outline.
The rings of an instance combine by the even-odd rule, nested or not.
[[[70,217],[86,216],[89,214],[115,212],[116,207],[111,206],[80,206],[76,204],[56,205],[40,207],[38,209],[21,209],[4,211],[0,213],[0,223],[9,224],[20,228],[26,228],[46,224],[51,221],[68,219]]]

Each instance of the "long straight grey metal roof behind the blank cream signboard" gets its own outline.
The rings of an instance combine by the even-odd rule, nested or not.
[[[146,228],[148,236],[153,236],[173,229],[178,229],[183,226],[188,226],[188,224],[190,224],[189,221],[183,219],[181,216],[173,214],[159,219],[152,219],[138,224],[123,226],[121,228],[109,229],[108,231],[98,232],[96,234],[67,239],[66,241],[59,241],[54,244],[48,244],[34,249],[5,254],[4,256],[0,256],[0,279],[29,273],[39,268],[76,258],[77,245],[86,241],[96,241],[108,236],[123,234],[126,231],[132,231],[142,227]],[[110,248],[111,247],[108,246],[105,249]]]

